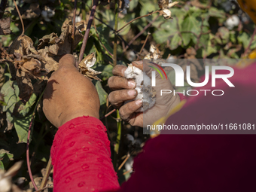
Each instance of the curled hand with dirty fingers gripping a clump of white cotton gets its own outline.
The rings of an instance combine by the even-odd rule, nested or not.
[[[145,62],[148,64],[148,62]],[[133,66],[144,70],[146,75],[151,78],[152,68],[144,65],[143,62],[132,62]],[[165,117],[168,112],[180,102],[179,96],[176,94],[164,94],[160,96],[160,90],[172,90],[173,87],[169,80],[161,79],[160,75],[156,75],[157,87],[154,90],[157,92],[156,104],[145,111],[144,113],[136,111],[142,106],[141,100],[128,102],[123,105],[123,102],[135,99],[137,92],[134,89],[136,87],[135,81],[127,80],[124,78],[124,72],[126,66],[115,66],[113,69],[113,75],[108,79],[108,86],[113,90],[109,96],[109,102],[114,105],[115,108],[119,108],[120,117],[123,120],[128,121],[132,126],[145,126],[146,124],[153,124],[160,117]],[[144,125],[143,125],[144,123]]]

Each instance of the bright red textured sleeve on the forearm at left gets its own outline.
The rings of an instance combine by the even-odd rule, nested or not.
[[[78,117],[59,127],[50,154],[54,192],[114,191],[119,188],[105,126]]]

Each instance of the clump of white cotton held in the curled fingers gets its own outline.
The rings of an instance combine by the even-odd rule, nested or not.
[[[136,90],[138,92],[135,99],[127,101],[131,102],[137,99],[142,99],[142,108],[136,112],[143,112],[154,106],[156,102],[156,91],[151,87],[151,78],[148,77],[141,69],[130,64],[124,72],[127,79],[133,79],[136,82]],[[125,103],[127,103],[125,102]]]

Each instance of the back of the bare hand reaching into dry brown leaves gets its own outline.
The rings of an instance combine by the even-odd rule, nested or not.
[[[62,56],[59,69],[51,75],[44,91],[44,114],[56,127],[83,115],[99,118],[97,90],[75,64],[71,54]]]

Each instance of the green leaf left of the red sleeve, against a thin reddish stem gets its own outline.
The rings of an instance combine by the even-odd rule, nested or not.
[[[29,125],[31,123],[31,120],[32,120],[32,113],[22,118],[14,117],[14,127],[19,138],[18,143],[27,142]]]

